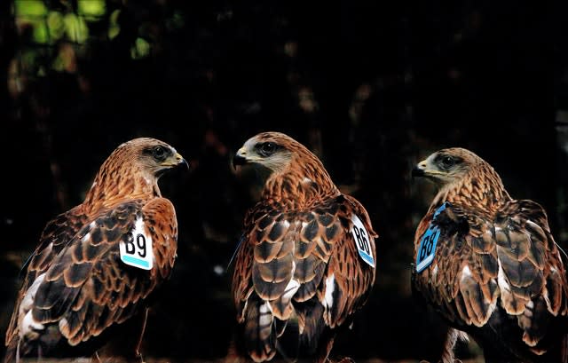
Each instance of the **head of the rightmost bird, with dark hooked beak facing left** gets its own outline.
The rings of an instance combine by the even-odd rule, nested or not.
[[[412,176],[428,178],[438,186],[448,185],[465,178],[481,162],[479,156],[461,147],[442,149],[416,164]]]

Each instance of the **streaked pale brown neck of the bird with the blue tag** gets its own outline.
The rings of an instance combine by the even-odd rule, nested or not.
[[[484,178],[469,176],[442,186],[431,204],[431,209],[448,201],[456,205],[467,205],[493,214],[501,205],[510,201],[501,178],[493,168],[485,168]]]

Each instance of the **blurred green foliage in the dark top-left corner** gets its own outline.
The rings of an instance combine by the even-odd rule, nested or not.
[[[48,7],[49,4],[50,6]],[[13,15],[25,45],[18,60],[19,69],[36,69],[34,76],[44,76],[47,68],[58,72],[76,72],[77,53],[83,56],[89,42],[110,41],[119,36],[119,17],[122,6],[112,2],[107,7],[105,0],[53,1],[14,0]],[[170,28],[183,26],[183,18],[174,13],[168,20]],[[150,54],[152,35],[141,24],[138,37],[130,46],[131,59],[143,59]],[[72,46],[69,46],[71,44]],[[49,45],[47,48],[40,45]],[[41,64],[38,58],[51,58],[50,64]]]

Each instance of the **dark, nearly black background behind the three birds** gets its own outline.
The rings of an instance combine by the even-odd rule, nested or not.
[[[77,0],[34,0],[44,12],[26,1],[0,3],[2,340],[43,225],[83,201],[106,156],[140,136],[193,165],[160,183],[177,208],[179,247],[148,356],[225,355],[235,316],[227,265],[251,204],[230,162],[259,131],[318,154],[380,234],[374,294],[335,354],[436,359],[440,323],[409,286],[414,228],[434,190],[410,169],[438,148],[492,163],[513,197],[548,210],[568,247],[564,5],[97,0],[93,16]],[[64,23],[61,35],[53,12],[84,27]]]

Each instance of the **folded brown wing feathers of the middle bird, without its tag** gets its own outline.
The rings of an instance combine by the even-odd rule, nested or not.
[[[298,339],[313,351],[325,327],[343,324],[364,304],[375,280],[375,269],[358,256],[351,215],[364,221],[374,258],[376,233],[365,209],[351,197],[308,211],[256,208],[263,213],[249,213],[233,273],[238,320],[247,321],[247,339],[264,339],[248,343],[248,350],[256,359],[270,357],[273,339],[290,329],[277,322],[295,317]]]

